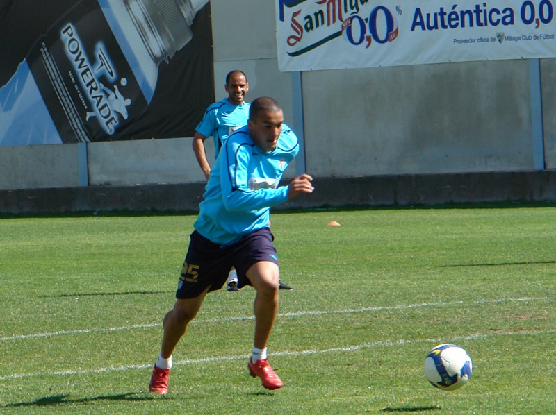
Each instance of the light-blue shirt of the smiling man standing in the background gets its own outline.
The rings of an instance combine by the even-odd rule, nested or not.
[[[250,106],[251,104],[247,102],[234,105],[224,98],[206,109],[204,117],[195,131],[205,137],[213,136],[215,158],[218,157],[220,147],[226,142],[229,135],[247,124]]]

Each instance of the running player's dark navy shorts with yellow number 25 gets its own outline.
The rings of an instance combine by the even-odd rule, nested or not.
[[[206,287],[208,291],[221,289],[232,266],[238,273],[238,287],[251,285],[245,273],[253,264],[261,261],[278,264],[273,240],[270,228],[263,228],[245,235],[235,244],[221,246],[195,230],[190,236],[176,297],[195,298]]]

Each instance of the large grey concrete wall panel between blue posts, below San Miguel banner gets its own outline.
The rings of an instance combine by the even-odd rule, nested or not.
[[[529,90],[527,60],[306,72],[307,166],[321,177],[532,169]]]

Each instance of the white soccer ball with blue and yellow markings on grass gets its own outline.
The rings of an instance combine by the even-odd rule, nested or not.
[[[471,371],[471,357],[455,344],[439,344],[425,357],[425,378],[443,391],[463,387],[471,378]]]

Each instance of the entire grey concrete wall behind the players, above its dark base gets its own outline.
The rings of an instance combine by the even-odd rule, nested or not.
[[[280,73],[274,1],[211,0],[211,10],[215,99],[227,72],[242,69],[248,101],[281,103],[304,137],[287,177],[532,171],[539,160],[556,169],[556,59],[540,61],[540,85],[529,60]],[[204,181],[190,137],[93,143],[86,153],[91,186]],[[0,147],[0,189],[79,186],[79,154],[71,144]]]

